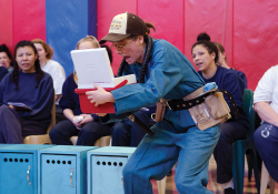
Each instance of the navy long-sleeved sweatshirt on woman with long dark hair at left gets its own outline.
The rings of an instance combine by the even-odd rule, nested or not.
[[[0,105],[8,102],[24,103],[31,111],[17,111],[19,116],[30,121],[39,121],[43,129],[51,122],[51,109],[54,102],[54,90],[51,76],[43,74],[38,88],[37,73],[23,73],[19,71],[18,88],[12,82],[12,74],[4,76],[0,83]]]

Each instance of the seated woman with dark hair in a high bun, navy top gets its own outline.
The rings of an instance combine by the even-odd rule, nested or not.
[[[218,89],[225,89],[231,93],[239,110],[238,118],[235,118],[231,104],[226,99],[231,110],[232,118],[220,125],[221,133],[219,141],[214,151],[217,162],[217,182],[224,184],[225,194],[236,193],[234,190],[234,180],[231,173],[231,145],[235,141],[246,139],[248,133],[249,121],[242,110],[244,88],[239,76],[226,68],[217,65],[218,50],[210,42],[207,33],[201,33],[191,49],[193,63],[199,70],[206,83],[216,82]]]

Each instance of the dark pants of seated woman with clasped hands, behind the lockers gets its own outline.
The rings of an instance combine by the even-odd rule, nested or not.
[[[110,124],[101,124],[98,121],[86,123],[81,130],[77,130],[70,120],[56,124],[50,130],[50,140],[57,145],[72,145],[71,136],[78,135],[77,145],[91,145],[101,136],[110,135]]]

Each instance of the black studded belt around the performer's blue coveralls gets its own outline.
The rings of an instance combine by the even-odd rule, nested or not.
[[[191,100],[188,100],[188,101],[183,101],[182,99],[179,99],[179,100],[169,100],[169,101],[167,101],[167,103],[168,103],[169,109],[172,111],[188,110],[192,106],[196,106],[196,105],[205,102],[205,99],[207,96],[209,96],[216,92],[221,92],[222,94],[225,94],[229,99],[229,101],[231,103],[232,111],[235,113],[235,116],[237,118],[238,116],[238,108],[237,108],[236,101],[232,98],[232,95],[230,94],[230,92],[228,92],[227,90],[224,90],[224,89],[210,90],[210,91],[203,93],[202,95],[195,98],[195,99],[191,99]]]

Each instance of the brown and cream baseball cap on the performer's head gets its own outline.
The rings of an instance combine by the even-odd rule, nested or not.
[[[102,44],[107,41],[120,42],[130,35],[145,35],[148,34],[147,25],[141,18],[133,13],[121,13],[113,17],[109,32],[103,37],[99,43]]]

